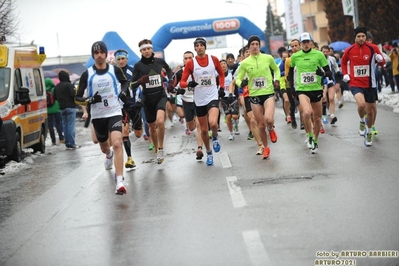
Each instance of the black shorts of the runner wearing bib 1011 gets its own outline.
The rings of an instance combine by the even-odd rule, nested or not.
[[[154,123],[157,120],[158,110],[166,110],[167,100],[165,91],[143,94],[143,108],[148,123]]]

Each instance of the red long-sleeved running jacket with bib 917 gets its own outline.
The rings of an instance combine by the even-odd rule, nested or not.
[[[365,42],[363,45],[354,43],[345,49],[341,58],[342,74],[350,77],[349,87],[376,88],[377,61],[375,56],[382,53],[377,45]],[[383,66],[385,59],[378,65]]]

